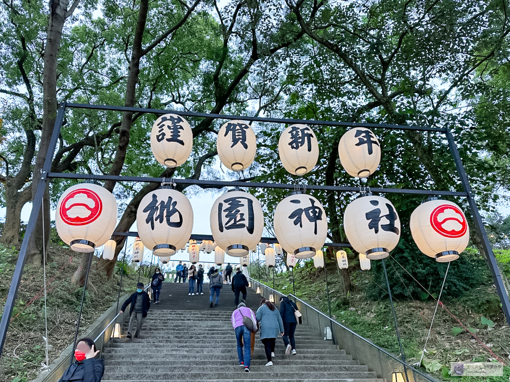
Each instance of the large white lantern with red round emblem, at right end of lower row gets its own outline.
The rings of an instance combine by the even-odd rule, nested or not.
[[[438,262],[458,259],[469,242],[469,226],[462,209],[448,200],[432,199],[411,214],[411,234],[420,249]]]

